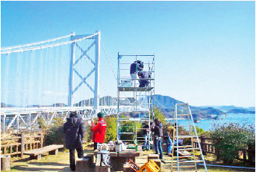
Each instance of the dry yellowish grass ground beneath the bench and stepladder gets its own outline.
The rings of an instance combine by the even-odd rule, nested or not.
[[[84,150],[84,153],[93,153],[92,148],[88,148]],[[152,151],[147,151],[143,153],[152,153]],[[77,157],[77,156],[76,156]],[[170,159],[169,156],[164,156],[164,159]],[[211,164],[219,164],[220,162],[214,162],[213,156],[205,157],[207,163]],[[42,156],[42,159],[37,160],[29,160],[29,156],[24,156],[23,159],[18,157],[11,158],[11,170],[10,171],[40,171],[40,172],[50,172],[50,171],[70,171],[69,169],[69,152],[63,151],[60,152],[57,156],[53,155],[45,155]],[[242,166],[242,165],[240,165]],[[199,171],[204,171],[203,166],[198,166]],[[171,163],[162,163],[161,171],[171,171]],[[192,171],[188,169],[187,171]],[[255,170],[243,170],[238,168],[216,168],[216,167],[208,167],[208,171],[226,171],[226,172],[236,172],[236,171],[255,171]],[[5,171],[9,172],[9,171]]]

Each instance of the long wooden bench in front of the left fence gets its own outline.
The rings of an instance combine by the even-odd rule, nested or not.
[[[29,155],[30,159],[37,159],[40,160],[41,159],[41,155],[43,155],[44,153],[48,153],[49,155],[57,155],[58,153],[58,149],[63,148],[63,144],[51,144],[49,146],[46,147],[42,147],[39,149],[35,149],[35,150],[27,150],[25,151],[25,155]]]

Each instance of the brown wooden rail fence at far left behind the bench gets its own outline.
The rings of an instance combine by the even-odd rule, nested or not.
[[[34,141],[25,142],[25,138],[34,138]],[[34,150],[43,147],[43,134],[40,133],[38,136],[25,136],[25,134],[18,134],[16,137],[1,138],[1,141],[10,141],[11,144],[1,144],[1,155],[19,155],[23,157],[26,150]]]

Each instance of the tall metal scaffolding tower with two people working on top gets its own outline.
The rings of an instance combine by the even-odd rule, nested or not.
[[[140,68],[143,62],[143,70]],[[131,78],[131,65],[136,65],[136,73]],[[149,74],[143,78],[141,75]],[[140,77],[139,77],[140,75]],[[119,140],[142,144],[143,125],[154,120],[154,55],[121,55],[118,54],[118,113],[116,137]],[[147,79],[146,79],[147,78]],[[146,86],[143,86],[146,82]],[[120,106],[133,106],[129,113],[120,112]],[[149,128],[148,128],[149,130]],[[152,140],[149,130],[149,138]]]

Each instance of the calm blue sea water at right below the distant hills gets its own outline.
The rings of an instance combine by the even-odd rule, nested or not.
[[[200,120],[199,123],[195,123],[197,127],[202,128],[205,131],[210,130],[212,128],[213,124],[222,124],[222,123],[246,123],[246,124],[252,124],[255,125],[255,114],[233,114],[229,113],[225,116],[220,115],[221,119],[218,120],[212,120],[212,119],[205,119]],[[186,120],[179,120],[179,125],[186,125]]]

